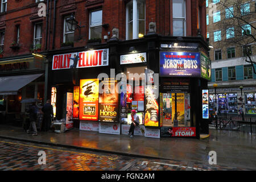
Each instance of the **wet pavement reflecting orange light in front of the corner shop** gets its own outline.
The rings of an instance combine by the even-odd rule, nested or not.
[[[89,150],[147,160],[178,160],[185,162],[181,165],[183,167],[192,164],[190,167],[201,169],[209,168],[209,151],[216,151],[217,165],[211,167],[256,169],[256,135],[237,131],[210,130],[210,137],[200,140],[192,138],[155,139],[137,136],[131,139],[127,135],[100,134],[94,131],[80,131],[78,129],[72,129],[61,134],[41,132],[38,136],[31,136],[20,127],[1,125],[1,137],[57,147],[68,147],[73,148],[75,151]],[[141,163],[140,161],[135,162],[133,165],[134,167],[137,165],[138,168],[135,167],[133,170],[143,170],[143,168],[139,167]],[[166,162],[158,163],[159,167],[163,168],[164,166],[166,168],[180,166],[180,164],[176,165],[174,163],[171,163],[171,165],[176,166],[168,166],[165,164]]]

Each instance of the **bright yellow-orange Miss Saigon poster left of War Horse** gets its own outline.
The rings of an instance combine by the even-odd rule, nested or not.
[[[98,79],[80,80],[79,119],[98,121]]]

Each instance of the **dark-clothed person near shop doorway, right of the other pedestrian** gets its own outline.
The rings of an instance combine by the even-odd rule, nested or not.
[[[44,131],[48,131],[51,128],[51,118],[53,117],[53,107],[51,105],[51,100],[47,100],[46,104],[42,107],[44,113],[43,128]]]

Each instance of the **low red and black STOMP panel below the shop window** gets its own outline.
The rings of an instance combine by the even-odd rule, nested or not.
[[[196,127],[161,127],[162,137],[196,137]]]

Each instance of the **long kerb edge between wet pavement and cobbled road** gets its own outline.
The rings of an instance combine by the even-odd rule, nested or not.
[[[160,160],[176,160],[176,159],[157,158],[157,157],[148,156],[148,155],[129,154],[129,153],[126,153],[126,152],[116,152],[116,151],[101,150],[101,149],[96,149],[96,148],[86,148],[86,147],[71,146],[71,145],[68,145],[68,144],[59,144],[59,143],[42,142],[42,141],[37,141],[37,140],[29,140],[29,139],[15,138],[15,137],[6,137],[6,136],[1,136],[1,135],[0,135],[0,138],[11,139],[11,140],[18,140],[20,142],[30,142],[30,143],[45,144],[45,145],[55,146],[55,147],[65,147],[65,148],[73,148],[73,149],[79,149],[79,150],[85,150],[85,151],[104,152],[104,153],[107,153],[107,154],[125,155],[125,156],[136,157],[136,158],[160,159]],[[179,161],[179,160],[176,160],[176,161]]]

